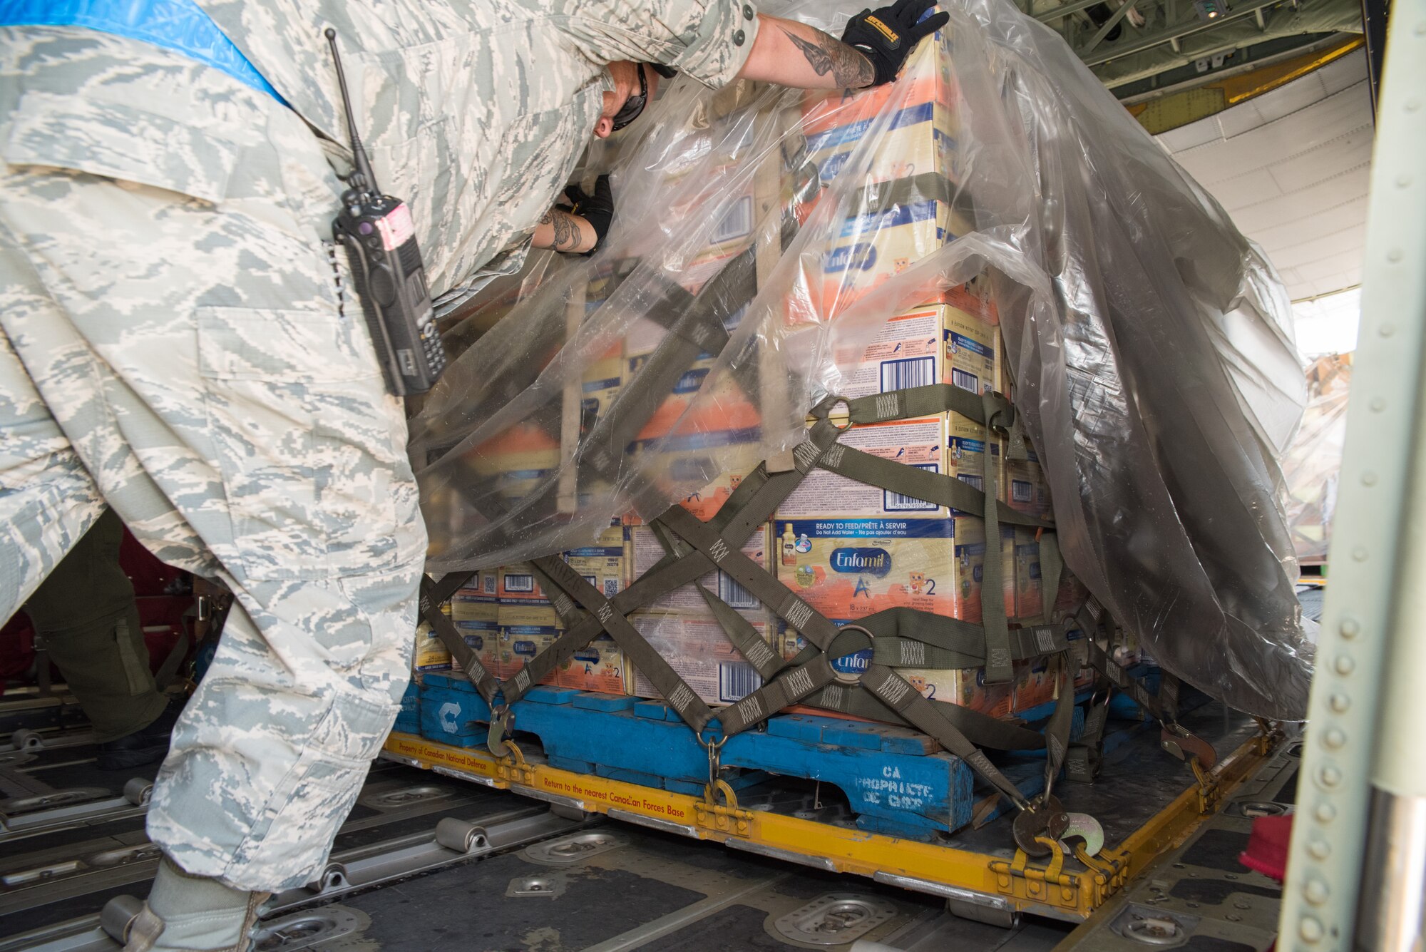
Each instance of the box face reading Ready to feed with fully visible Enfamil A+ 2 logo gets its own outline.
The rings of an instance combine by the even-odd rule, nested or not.
[[[790,519],[773,532],[779,579],[829,619],[863,619],[897,606],[981,617],[981,519]],[[789,534],[790,559],[783,546]]]

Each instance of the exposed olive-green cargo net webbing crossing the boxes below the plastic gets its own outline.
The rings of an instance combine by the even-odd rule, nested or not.
[[[844,426],[837,426],[830,419],[838,406],[846,408]],[[422,614],[482,697],[499,710],[508,710],[509,704],[523,697],[575,651],[586,647],[600,633],[607,633],[700,738],[704,731],[712,734],[710,725],[714,718],[722,735],[730,737],[799,703],[876,720],[901,720],[961,757],[1018,809],[1034,809],[978,745],[997,750],[1045,748],[1047,782],[1041,800],[1048,798],[1054,778],[1064,765],[1074,708],[1072,678],[1064,663],[1068,648],[1065,626],[1041,623],[1011,630],[1004,601],[991,597],[983,600],[983,604],[995,606],[987,613],[984,624],[898,607],[838,628],[763,566],[740,552],[742,542],[771,517],[777,506],[814,466],[891,492],[950,506],[963,513],[983,516],[987,540],[995,540],[997,550],[1001,543],[1001,519],[1012,524],[1050,529],[1045,520],[1010,509],[1001,510],[995,500],[992,473],[985,492],[980,492],[953,476],[901,466],[837,442],[841,432],[857,423],[927,416],[945,410],[963,413],[983,423],[987,438],[992,430],[1005,432],[1010,436],[1008,452],[1024,457],[1022,435],[1015,436],[1020,429],[1014,408],[995,393],[975,395],[950,385],[933,385],[858,399],[829,398],[814,408],[816,422],[809,428],[806,439],[790,453],[761,463],[743,479],[713,519],[702,522],[680,506],[673,506],[659,516],[652,527],[667,554],[613,599],[606,599],[562,559],[553,556],[535,559],[532,564],[553,596],[552,603],[565,624],[565,633],[503,684],[498,684],[483,670],[455,626],[436,607],[459,589],[469,574],[456,573],[458,577],[446,577],[441,583],[428,581]],[[991,546],[987,549],[983,586],[987,591],[1000,593],[1002,591],[1000,556],[990,552]],[[1048,532],[1041,534],[1041,564],[1044,584],[1047,591],[1052,593],[1058,589],[1062,562],[1054,546],[1054,534]],[[626,617],[673,589],[696,584],[699,577],[713,569],[726,573],[756,596],[809,643],[796,658],[783,660],[732,606],[699,586],[702,597],[730,643],[764,678],[760,688],[716,714]],[[834,668],[833,663],[837,658],[868,647],[873,650],[873,658],[864,673],[847,676]],[[1047,654],[1055,656],[1057,703],[1044,735],[1015,721],[994,718],[954,704],[933,703],[894,671],[894,667],[985,667],[988,683],[1008,681],[1014,661]],[[496,700],[503,704],[496,705]]]

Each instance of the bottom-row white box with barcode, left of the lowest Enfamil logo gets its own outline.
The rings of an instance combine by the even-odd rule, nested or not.
[[[713,619],[636,611],[629,620],[706,704],[734,704],[763,684]],[[766,621],[753,626],[763,638],[769,637]],[[633,681],[635,695],[659,697],[642,671],[635,671]]]

